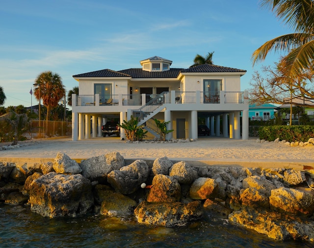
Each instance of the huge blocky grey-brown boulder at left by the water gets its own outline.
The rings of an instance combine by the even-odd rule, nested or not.
[[[30,209],[45,217],[76,217],[94,204],[91,183],[81,174],[51,172],[33,180],[29,191]]]

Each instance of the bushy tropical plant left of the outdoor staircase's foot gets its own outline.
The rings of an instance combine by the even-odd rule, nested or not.
[[[122,124],[118,124],[119,127],[125,130],[126,138],[130,141],[141,141],[147,131],[144,131],[141,126],[138,126],[138,119],[131,116],[129,121],[123,121]]]

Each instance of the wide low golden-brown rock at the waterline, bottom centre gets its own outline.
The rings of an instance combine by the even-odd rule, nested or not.
[[[203,207],[200,201],[190,203],[150,203],[142,201],[135,208],[134,214],[138,223],[181,226],[199,220],[203,215]]]

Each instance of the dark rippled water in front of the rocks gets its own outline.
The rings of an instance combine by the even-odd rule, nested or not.
[[[268,239],[264,235],[205,215],[183,227],[150,227],[132,217],[44,218],[21,206],[0,204],[0,248],[12,247],[313,247],[310,242]]]

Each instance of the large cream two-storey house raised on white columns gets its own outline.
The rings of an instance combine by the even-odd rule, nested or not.
[[[157,137],[154,119],[169,121],[167,129],[174,131],[166,139],[196,139],[199,116],[206,117],[211,135],[239,139],[241,111],[242,139],[248,139],[248,92],[240,91],[245,70],[209,64],[171,68],[171,60],[157,56],[140,64],[73,75],[80,93],[72,95],[74,141],[100,137],[107,120],[123,123],[131,116]],[[125,139],[123,129],[120,139]]]

